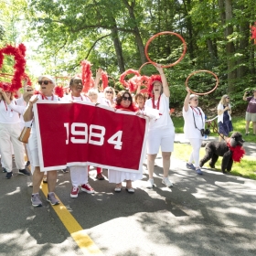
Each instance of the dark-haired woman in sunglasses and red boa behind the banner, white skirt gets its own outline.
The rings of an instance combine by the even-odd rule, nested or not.
[[[137,112],[138,109],[133,105],[132,95],[129,91],[120,91],[116,97],[116,105],[115,109],[128,111],[128,112]],[[134,188],[132,185],[132,181],[142,179],[143,174],[138,173],[130,173],[123,171],[116,171],[109,169],[109,182],[115,183],[116,187],[114,188],[115,192],[121,192],[122,190],[122,182],[126,180],[126,191],[128,193],[134,193]]]

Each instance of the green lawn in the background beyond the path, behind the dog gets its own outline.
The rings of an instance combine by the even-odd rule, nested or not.
[[[176,133],[183,133],[183,126],[184,126],[184,120],[182,116],[172,116],[173,123],[176,127]],[[232,124],[234,132],[245,134],[245,120],[243,117],[232,117]],[[251,135],[252,134],[252,123],[250,123],[250,133],[248,136],[244,136],[244,140],[248,143],[256,143],[256,136]],[[210,128],[210,136],[218,137],[218,133],[213,133],[212,128]]]

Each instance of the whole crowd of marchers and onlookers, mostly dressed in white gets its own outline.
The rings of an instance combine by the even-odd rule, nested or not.
[[[42,206],[39,197],[39,189],[42,181],[48,184],[48,202],[51,205],[58,205],[59,199],[55,195],[57,182],[57,170],[42,172],[38,157],[37,145],[37,127],[34,122],[33,106],[38,100],[43,101],[88,101],[102,104],[122,111],[135,112],[137,115],[144,114],[149,118],[149,129],[147,137],[147,168],[148,181],[147,187],[154,187],[154,168],[155,157],[161,147],[163,158],[163,179],[162,183],[166,187],[173,187],[169,179],[170,159],[174,151],[175,127],[172,122],[169,110],[170,91],[165,77],[164,70],[160,65],[156,65],[160,75],[155,75],[150,80],[148,91],[142,93],[137,91],[136,95],[131,94],[128,90],[116,91],[107,86],[103,91],[99,91],[98,85],[101,79],[101,69],[96,72],[94,88],[87,93],[83,92],[83,83],[80,75],[76,75],[69,80],[69,91],[63,98],[54,94],[56,86],[55,79],[50,75],[42,75],[38,78],[39,91],[34,93],[31,86],[27,86],[27,80],[24,81],[23,94],[18,99],[14,98],[15,91],[8,88],[0,88],[0,154],[3,171],[6,178],[13,176],[12,160],[15,157],[18,174],[30,176],[32,174],[33,192],[31,202],[34,207]],[[198,107],[198,96],[191,94],[187,87],[187,96],[183,106],[183,117],[185,121],[184,133],[192,146],[192,153],[187,162],[187,168],[196,171],[197,175],[202,175],[199,167],[199,150],[202,144],[205,129],[205,113]],[[256,91],[253,96],[243,96],[244,101],[249,101],[246,112],[246,133],[248,134],[249,123],[253,123],[253,133],[256,133]],[[218,123],[219,136],[224,139],[232,131],[231,123],[231,106],[228,95],[223,95],[218,105]],[[28,144],[23,144],[17,138],[22,128],[32,127]],[[25,163],[24,155],[27,155]],[[194,164],[193,164],[194,163]],[[26,167],[30,165],[30,171]],[[104,180],[102,169],[97,167],[97,176],[99,180]],[[88,182],[88,172],[90,166],[73,165],[69,166],[70,180],[72,189],[70,197],[78,197],[79,191],[94,193],[94,189]],[[134,193],[133,181],[143,178],[142,173],[133,174],[109,169],[108,179],[114,183],[114,191],[121,192],[125,181],[125,189],[128,193]]]

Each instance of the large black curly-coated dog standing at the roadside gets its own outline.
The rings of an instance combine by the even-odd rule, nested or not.
[[[242,139],[241,133],[232,133],[229,145],[232,148],[235,148],[237,145],[242,146],[244,140]],[[202,167],[205,163],[208,162],[211,168],[215,168],[215,164],[219,158],[219,156],[223,156],[221,163],[221,171],[223,174],[226,173],[226,169],[228,172],[231,171],[233,165],[233,152],[230,150],[227,142],[209,142],[206,144],[206,155],[200,161],[200,167]]]

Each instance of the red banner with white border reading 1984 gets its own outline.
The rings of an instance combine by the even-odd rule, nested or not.
[[[37,101],[41,171],[97,165],[142,171],[147,119],[90,102]]]

